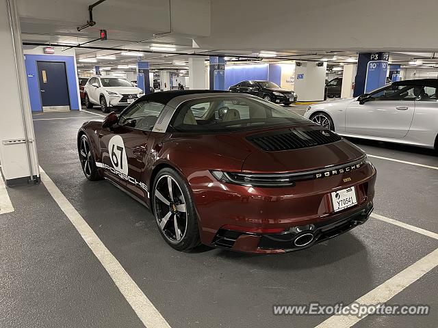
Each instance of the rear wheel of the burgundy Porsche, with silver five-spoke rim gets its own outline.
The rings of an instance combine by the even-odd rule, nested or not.
[[[200,244],[198,219],[188,184],[175,169],[162,169],[153,184],[153,214],[164,240],[179,251]]]

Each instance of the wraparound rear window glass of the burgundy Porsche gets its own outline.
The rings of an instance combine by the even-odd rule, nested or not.
[[[215,96],[184,102],[170,125],[179,132],[227,132],[308,124],[302,116],[264,100]]]

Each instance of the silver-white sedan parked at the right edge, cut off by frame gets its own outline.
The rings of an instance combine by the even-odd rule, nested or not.
[[[398,81],[356,98],[318,102],[305,118],[346,137],[438,150],[438,79]]]

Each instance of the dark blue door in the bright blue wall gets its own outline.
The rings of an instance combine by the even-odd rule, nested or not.
[[[70,96],[66,63],[64,61],[37,61],[37,67],[42,110],[69,110]]]

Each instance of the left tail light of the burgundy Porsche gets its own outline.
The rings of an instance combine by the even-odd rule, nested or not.
[[[294,187],[290,174],[248,174],[240,172],[210,171],[220,182],[240,184],[246,187]]]

